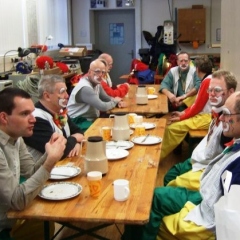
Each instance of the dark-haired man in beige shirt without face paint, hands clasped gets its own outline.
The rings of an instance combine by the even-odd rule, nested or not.
[[[25,209],[39,194],[66,146],[66,139],[53,133],[45,145],[46,153],[34,161],[22,139],[33,133],[33,111],[31,96],[24,90],[0,92],[0,239],[44,239],[43,221],[7,218],[7,211]],[[20,176],[27,180],[20,183]]]

